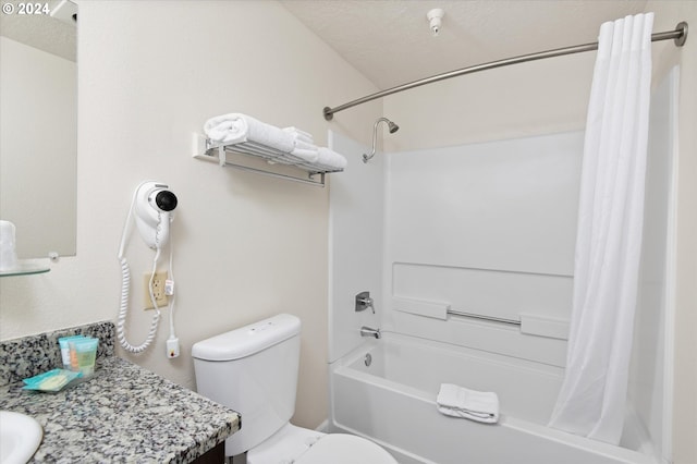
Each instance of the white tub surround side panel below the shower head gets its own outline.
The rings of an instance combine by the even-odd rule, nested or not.
[[[333,363],[362,342],[363,326],[379,328],[386,306],[382,297],[384,249],[384,157],[378,152],[368,163],[370,147],[346,136],[331,134],[331,145],[348,160],[330,192],[329,361]],[[355,310],[355,297],[370,292],[375,314]]]

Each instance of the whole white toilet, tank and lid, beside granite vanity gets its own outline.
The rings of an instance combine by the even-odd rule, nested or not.
[[[225,456],[247,452],[247,464],[396,464],[378,444],[346,434],[292,425],[301,321],[281,314],[195,343],[198,392],[242,415]]]

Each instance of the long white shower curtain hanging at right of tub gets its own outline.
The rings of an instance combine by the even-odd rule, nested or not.
[[[566,374],[550,426],[617,444],[637,297],[653,13],[600,27],[586,121]]]

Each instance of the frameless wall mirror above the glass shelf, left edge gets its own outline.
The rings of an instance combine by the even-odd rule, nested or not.
[[[2,3],[0,219],[20,259],[75,255],[76,19],[69,0]]]

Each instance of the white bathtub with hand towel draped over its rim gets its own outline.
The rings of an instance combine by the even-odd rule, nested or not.
[[[657,464],[628,414],[623,445],[546,427],[562,369],[401,334],[366,340],[330,369],[329,430],[376,441],[402,464]],[[440,383],[496,391],[496,425],[438,413]]]

